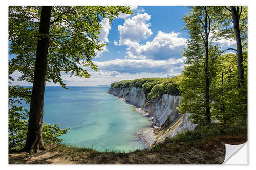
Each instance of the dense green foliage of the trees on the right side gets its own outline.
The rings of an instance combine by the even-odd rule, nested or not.
[[[182,114],[191,113],[194,123],[205,122],[205,77],[208,76],[210,116],[223,123],[246,122],[247,121],[247,8],[243,7],[241,13],[243,41],[243,65],[245,82],[238,84],[237,55],[228,53],[221,55],[214,40],[225,38],[235,39],[232,25],[232,18],[225,7],[207,7],[211,18],[212,37],[209,42],[209,67],[208,75],[205,71],[205,50],[203,40],[205,35],[200,33],[201,18],[198,12],[200,7],[191,7],[190,14],[183,20],[185,29],[188,30],[190,40],[184,50],[187,57],[186,66],[183,71],[183,78],[180,84],[182,91],[181,105],[178,108]]]

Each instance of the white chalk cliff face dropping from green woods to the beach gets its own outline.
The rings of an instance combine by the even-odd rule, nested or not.
[[[146,115],[149,115],[151,120],[155,119],[155,125],[158,127],[154,130],[157,141],[174,137],[186,130],[194,130],[197,126],[188,119],[189,113],[180,115],[176,109],[180,104],[180,96],[163,94],[145,103],[146,97],[141,88],[110,88],[109,93],[137,107],[143,107],[142,110],[148,113]]]

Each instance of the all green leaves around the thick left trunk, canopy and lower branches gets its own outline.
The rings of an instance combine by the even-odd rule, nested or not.
[[[39,35],[41,6],[9,6],[9,149],[24,146],[28,128],[29,112],[22,106],[30,103],[31,89],[11,86],[12,74],[19,72],[18,81],[33,83],[37,40],[49,38],[46,81],[59,83],[66,88],[61,78],[63,72],[71,76],[89,78],[84,68],[98,70],[92,58],[96,51],[106,45],[98,40],[101,21],[108,18],[111,23],[119,12],[133,14],[128,6],[53,6],[50,34]],[[44,124],[45,143],[59,143],[58,137],[67,133],[58,125]]]

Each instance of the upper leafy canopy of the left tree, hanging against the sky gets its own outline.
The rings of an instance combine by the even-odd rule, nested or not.
[[[40,6],[9,6],[9,77],[20,72],[19,80],[33,83]],[[53,6],[49,35],[46,81],[65,87],[61,72],[89,78],[84,68],[98,70],[91,61],[106,44],[98,40],[101,20],[111,23],[118,13],[133,14],[126,6]]]

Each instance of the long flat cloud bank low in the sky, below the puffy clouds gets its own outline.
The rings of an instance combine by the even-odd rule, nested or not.
[[[136,59],[115,59],[110,61],[94,61],[101,70],[117,71],[120,73],[136,74],[141,72],[181,72],[183,70],[182,64],[186,57],[179,59],[168,60],[136,60]]]

